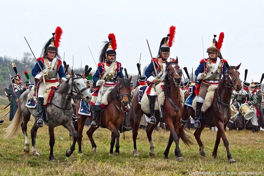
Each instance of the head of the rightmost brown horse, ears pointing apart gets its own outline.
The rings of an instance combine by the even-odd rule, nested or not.
[[[238,72],[238,69],[240,67],[241,63],[238,66],[229,66],[229,64],[226,62],[226,80],[228,80],[230,86],[234,88],[236,91],[241,90],[242,84],[241,80],[239,78],[240,73]]]

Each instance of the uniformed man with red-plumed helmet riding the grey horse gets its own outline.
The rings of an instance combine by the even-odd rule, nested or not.
[[[60,45],[60,37],[62,35],[62,29],[57,27],[55,33],[52,33],[53,37],[50,38],[44,45],[41,57],[39,57],[38,63],[35,64],[32,69],[32,75],[39,81],[38,88],[38,98],[37,98],[37,114],[38,121],[37,126],[43,127],[43,103],[44,103],[44,94],[46,93],[46,88],[51,86],[57,87],[59,85],[59,80],[57,75],[62,82],[66,81],[66,75],[63,71],[62,61],[60,60],[60,55],[58,54],[58,47]],[[39,65],[43,72],[41,71]],[[44,80],[43,80],[44,78]]]

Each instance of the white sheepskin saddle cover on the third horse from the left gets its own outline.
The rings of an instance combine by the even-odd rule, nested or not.
[[[164,105],[164,102],[165,102],[165,93],[163,91],[163,86],[164,86],[164,83],[161,82],[160,84],[156,85],[155,89],[156,89],[156,92],[157,92],[157,95],[159,97],[159,100],[160,100],[160,106],[163,106]],[[181,93],[181,101],[184,102],[184,94],[182,91],[180,91]],[[143,94],[143,97],[140,101],[140,96],[141,94]],[[139,98],[138,100],[140,101],[140,104],[141,104],[141,109],[143,110],[143,112],[145,114],[150,114],[150,109],[149,109],[149,101],[148,101],[148,97],[147,97],[147,94],[145,92],[145,90],[143,89],[139,89]],[[183,104],[182,104],[183,106]],[[155,111],[158,111],[159,110],[159,105],[158,105],[158,101],[156,99],[155,101]]]

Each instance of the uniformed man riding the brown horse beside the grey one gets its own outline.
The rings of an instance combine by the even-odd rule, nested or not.
[[[101,98],[106,90],[114,89],[117,84],[118,77],[123,78],[124,75],[121,69],[121,63],[116,61],[116,37],[113,33],[108,35],[109,42],[105,42],[99,59],[97,70],[92,77],[95,86],[99,87],[98,91],[95,91],[93,96],[97,95],[97,100],[93,107],[93,119],[91,126],[97,127],[97,117],[99,117],[102,107]],[[98,93],[97,93],[98,92]],[[130,128],[131,129],[131,128]],[[126,127],[121,126],[120,131],[128,131]]]

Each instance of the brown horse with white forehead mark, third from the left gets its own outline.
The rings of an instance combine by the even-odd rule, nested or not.
[[[182,91],[179,87],[181,83],[181,76],[182,73],[180,72],[180,67],[178,65],[178,59],[175,60],[175,62],[166,62],[166,70],[163,74],[165,74],[164,78],[164,92],[165,92],[165,102],[163,106],[163,119],[160,119],[159,111],[155,112],[155,118],[156,123],[151,124],[148,126],[146,133],[148,136],[148,141],[150,143],[150,151],[149,156],[154,157],[154,144],[152,141],[151,134],[154,130],[154,128],[158,125],[159,122],[165,122],[167,124],[167,127],[170,130],[171,137],[173,141],[176,144],[176,152],[175,155],[177,156],[178,161],[182,161],[183,157],[179,148],[179,137],[182,139],[182,141],[189,145],[191,141],[186,137],[184,133],[184,126],[181,128],[180,125],[180,119],[182,116],[182,103],[181,103],[181,94],[180,91]],[[132,126],[132,132],[133,132],[133,142],[134,142],[134,150],[133,154],[134,156],[138,156],[137,152],[137,146],[136,146],[136,138],[138,135],[138,126],[141,120],[141,117],[143,115],[143,111],[141,110],[141,105],[138,103],[138,91],[134,94],[133,100],[132,100],[132,108],[129,110],[129,117],[130,117],[130,124],[133,124]],[[148,117],[150,117],[150,114],[146,114]],[[168,158],[167,153],[164,153],[164,158]]]

